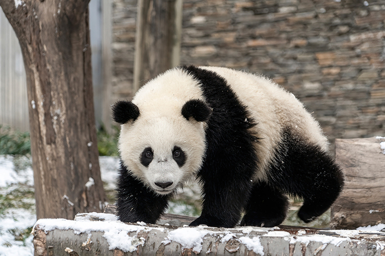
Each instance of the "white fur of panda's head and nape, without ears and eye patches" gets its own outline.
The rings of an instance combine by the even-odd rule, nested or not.
[[[159,194],[170,193],[201,168],[205,154],[204,123],[187,121],[182,106],[190,99],[203,99],[197,82],[181,70],[173,69],[149,81],[132,102],[139,108],[136,121],[123,124],[119,151],[132,174]],[[144,148],[153,150],[148,168],[140,162]],[[179,146],[186,163],[179,167],[172,159],[172,149]],[[155,182],[173,184],[160,190]]]

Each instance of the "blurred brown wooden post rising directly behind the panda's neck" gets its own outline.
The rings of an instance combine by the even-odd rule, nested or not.
[[[180,61],[182,0],[139,0],[133,92]]]

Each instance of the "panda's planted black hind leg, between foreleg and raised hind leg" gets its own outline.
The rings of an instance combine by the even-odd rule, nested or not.
[[[274,227],[286,218],[287,197],[265,182],[253,186],[241,226]]]

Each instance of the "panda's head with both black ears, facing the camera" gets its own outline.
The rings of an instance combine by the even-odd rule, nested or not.
[[[201,168],[211,109],[200,99],[183,103],[159,99],[158,103],[118,101],[112,114],[121,124],[123,163],[147,187],[166,195]]]

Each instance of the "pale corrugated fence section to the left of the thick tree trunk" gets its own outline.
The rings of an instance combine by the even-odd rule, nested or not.
[[[0,11],[0,125],[29,130],[22,51],[3,11]]]

